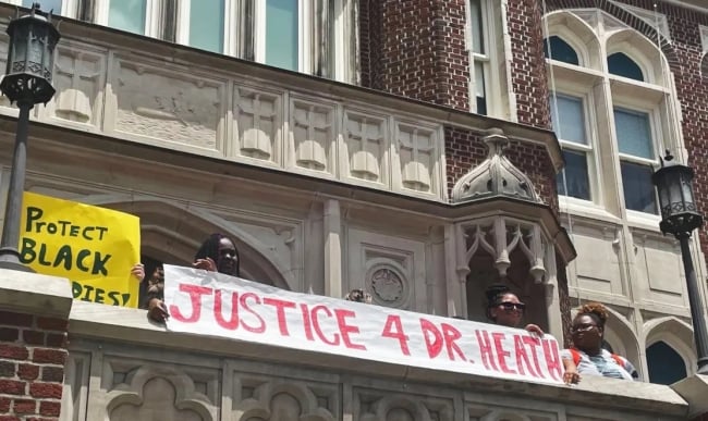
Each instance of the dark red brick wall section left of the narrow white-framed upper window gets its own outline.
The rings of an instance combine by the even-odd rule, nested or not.
[[[465,0],[361,0],[362,85],[469,109]]]

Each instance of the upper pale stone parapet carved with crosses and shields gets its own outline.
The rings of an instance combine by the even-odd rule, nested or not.
[[[550,132],[58,20],[57,95],[39,122],[430,200],[448,195],[443,124],[499,126],[562,162]],[[7,98],[0,114],[16,114]]]

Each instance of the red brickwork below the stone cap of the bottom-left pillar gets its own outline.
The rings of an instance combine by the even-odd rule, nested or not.
[[[54,421],[61,408],[66,320],[0,311],[0,421]]]

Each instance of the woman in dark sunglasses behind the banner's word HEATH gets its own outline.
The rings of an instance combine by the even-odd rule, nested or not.
[[[521,326],[526,305],[521,302],[516,294],[512,293],[505,285],[491,285],[487,288],[487,318],[506,327]],[[544,331],[537,324],[527,324],[524,329],[535,335],[544,336]],[[581,381],[576,363],[573,360],[563,359],[563,381],[566,384],[576,384]]]

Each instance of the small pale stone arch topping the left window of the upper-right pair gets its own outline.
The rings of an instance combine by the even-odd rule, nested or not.
[[[593,28],[582,18],[567,11],[554,11],[544,16],[548,27],[547,38],[559,36],[567,42],[578,55],[583,67],[600,70],[600,41]]]

